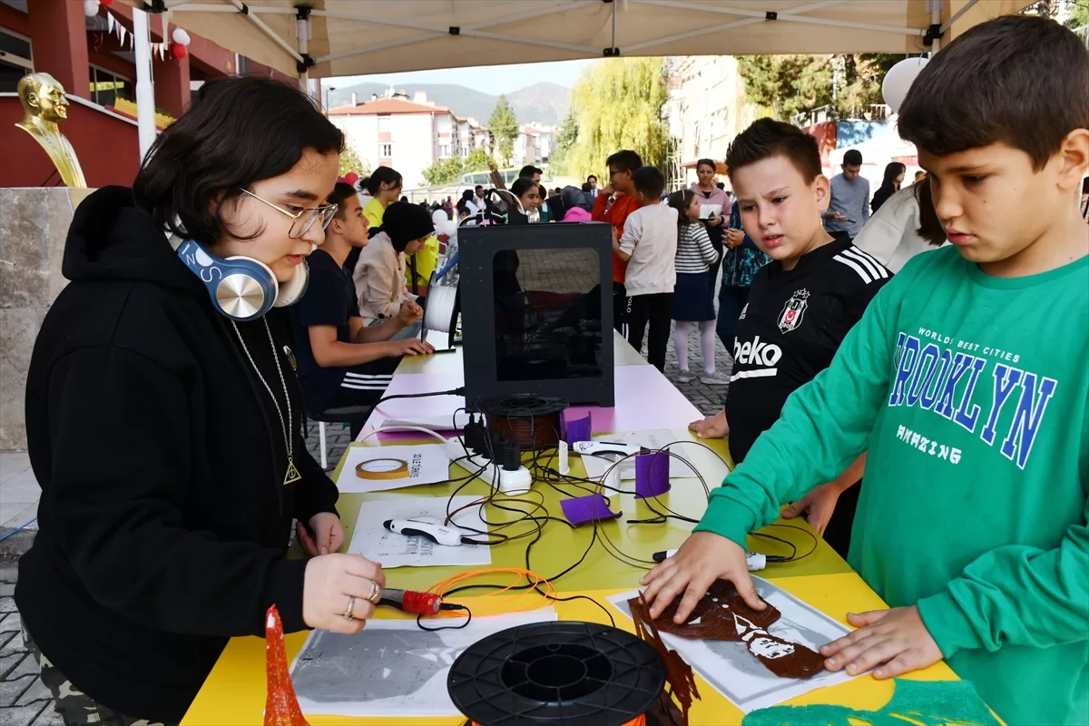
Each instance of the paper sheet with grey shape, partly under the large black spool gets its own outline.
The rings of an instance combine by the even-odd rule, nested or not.
[[[446,693],[454,660],[492,633],[555,619],[546,607],[473,618],[462,630],[427,632],[416,620],[377,619],[356,636],[315,630],[292,664],[291,679],[305,714],[458,716]]]

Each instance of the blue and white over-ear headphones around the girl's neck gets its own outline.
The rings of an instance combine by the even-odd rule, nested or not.
[[[216,257],[196,239],[176,235],[170,235],[170,246],[204,283],[212,307],[231,320],[254,320],[273,307],[298,302],[310,280],[306,260],[291,280],[280,283],[267,264],[252,257]]]

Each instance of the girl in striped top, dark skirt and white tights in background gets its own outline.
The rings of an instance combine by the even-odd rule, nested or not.
[[[730,378],[714,369],[714,298],[710,270],[719,261],[707,230],[699,221],[699,199],[692,189],[674,192],[669,204],[677,210],[677,283],[673,294],[674,345],[681,372],[678,383],[688,383],[688,331],[699,323],[699,346],[703,353],[702,383],[724,385]]]

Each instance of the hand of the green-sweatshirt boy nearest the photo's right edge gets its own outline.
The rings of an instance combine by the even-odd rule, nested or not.
[[[873,677],[883,679],[919,670],[942,660],[942,651],[915,605],[858,615],[847,613],[847,622],[858,630],[820,649],[821,655],[828,659],[824,667],[829,670],[846,668],[854,676],[880,666]]]

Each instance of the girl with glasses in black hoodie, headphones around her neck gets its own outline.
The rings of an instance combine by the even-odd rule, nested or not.
[[[75,212],[27,377],[42,495],[15,591],[65,724],[176,724],[271,605],[285,631],[358,632],[372,613],[384,578],[335,554],[284,307],[343,144],[296,88],[211,81],[133,188]],[[295,520],[309,559],[285,557]]]

